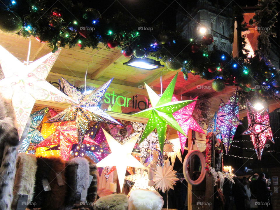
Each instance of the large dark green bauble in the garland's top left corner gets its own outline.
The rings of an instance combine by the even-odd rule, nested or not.
[[[22,28],[20,16],[12,11],[0,10],[0,30],[6,34],[15,34]]]

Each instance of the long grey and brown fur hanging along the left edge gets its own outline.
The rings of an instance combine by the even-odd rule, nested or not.
[[[18,145],[20,144],[11,101],[0,96],[0,210],[10,210]],[[27,135],[30,121],[22,136]],[[28,128],[27,128],[28,127]]]

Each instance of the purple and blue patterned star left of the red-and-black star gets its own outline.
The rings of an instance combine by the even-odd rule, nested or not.
[[[221,99],[220,107],[217,114],[218,128],[222,135],[225,151],[228,153],[238,125],[242,125],[239,120],[239,97],[236,89],[228,102]]]

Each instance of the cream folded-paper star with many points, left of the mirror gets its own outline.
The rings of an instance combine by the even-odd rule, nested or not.
[[[173,185],[176,185],[176,172],[172,170],[173,167],[169,164],[169,161],[165,162],[163,167],[157,166],[157,170],[154,173],[155,188],[160,189],[162,192],[169,189],[174,190]]]

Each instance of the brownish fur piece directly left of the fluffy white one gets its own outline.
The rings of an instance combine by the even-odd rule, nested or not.
[[[125,194],[106,195],[95,202],[95,210],[128,210],[128,197]]]

